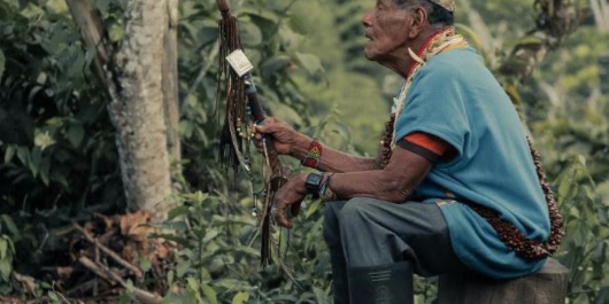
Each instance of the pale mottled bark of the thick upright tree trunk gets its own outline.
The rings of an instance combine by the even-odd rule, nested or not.
[[[167,1],[128,1],[125,19],[109,106],[122,180],[130,209],[163,217],[171,195],[163,98]]]

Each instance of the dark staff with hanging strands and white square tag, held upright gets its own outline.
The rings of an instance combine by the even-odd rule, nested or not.
[[[226,89],[226,112],[224,117],[224,128],[220,136],[220,161],[231,165],[235,170],[238,167],[252,176],[252,166],[247,140],[252,134],[250,123],[264,124],[264,109],[258,100],[256,86],[252,79],[253,66],[245,57],[239,24],[235,16],[231,15],[227,0],[216,0],[216,4],[222,19],[220,27],[220,51],[219,51],[219,73],[218,73],[218,96],[220,96],[221,83],[225,83]],[[262,195],[256,196],[262,201],[262,212],[258,213],[258,230],[252,241],[261,235],[261,266],[266,268],[274,253],[281,268],[288,277],[297,285],[294,271],[290,269],[280,257],[280,244],[272,235],[273,216],[271,209],[276,191],[292,176],[292,171],[282,165],[275,151],[272,138],[265,136],[262,140],[264,146],[264,161],[262,174],[264,176],[264,190]],[[256,203],[256,206],[258,204]]]

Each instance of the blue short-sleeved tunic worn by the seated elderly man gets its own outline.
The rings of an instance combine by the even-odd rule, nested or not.
[[[510,98],[471,47],[432,57],[415,75],[395,125],[396,138],[414,131],[433,134],[457,150],[432,167],[415,191],[440,206],[457,257],[490,277],[538,271],[546,259],[519,257],[476,212],[490,207],[532,240],[547,240],[547,204],[526,134]]]

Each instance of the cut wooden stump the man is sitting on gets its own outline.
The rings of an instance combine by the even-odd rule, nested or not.
[[[549,258],[536,274],[510,280],[475,273],[440,275],[438,304],[565,304],[567,273]]]

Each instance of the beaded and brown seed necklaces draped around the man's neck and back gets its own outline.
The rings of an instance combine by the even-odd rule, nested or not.
[[[455,49],[457,47],[468,46],[463,36],[457,35],[453,28],[442,30],[435,35],[431,36],[429,40],[421,48],[419,54],[414,54],[412,50],[409,50],[410,57],[415,61],[410,66],[410,71],[407,74],[406,80],[400,89],[398,97],[393,98],[392,111],[389,116],[389,121],[385,123],[385,134],[381,140],[381,168],[387,167],[389,159],[395,148],[395,121],[400,116],[404,103],[406,102],[406,95],[412,84],[412,79],[417,72],[424,66],[429,58],[434,57],[437,54],[445,52],[446,50]],[[560,245],[560,241],[563,236],[563,218],[558,213],[556,201],[554,199],[554,193],[546,182],[546,174],[541,167],[541,160],[539,154],[533,148],[530,140],[527,139],[531,155],[533,157],[533,164],[537,171],[537,176],[540,181],[540,186],[543,190],[547,209],[550,217],[550,235],[545,243],[539,241],[533,241],[526,238],[526,236],[518,230],[509,221],[501,219],[499,213],[488,207],[473,202],[465,202],[472,210],[478,213],[482,218],[486,219],[488,223],[495,229],[499,235],[499,239],[505,244],[505,246],[512,249],[516,254],[520,255],[527,260],[538,260],[546,258],[554,254]]]

